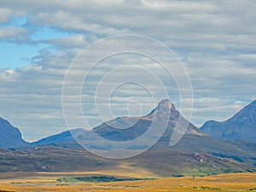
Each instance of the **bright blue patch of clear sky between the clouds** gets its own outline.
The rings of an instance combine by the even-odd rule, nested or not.
[[[31,29],[28,39],[25,41],[16,41],[15,39],[3,39],[0,42],[0,51],[4,53],[1,55],[0,66],[2,68],[20,68],[26,67],[32,62],[34,56],[39,55],[41,49],[49,49],[50,51],[55,51],[53,46],[44,44],[46,39],[52,38],[63,38],[68,37],[71,32],[62,32],[56,30],[54,27],[50,26],[30,26],[27,24],[27,17],[15,16],[10,18],[8,23],[3,23],[1,27],[24,27],[25,29]]]

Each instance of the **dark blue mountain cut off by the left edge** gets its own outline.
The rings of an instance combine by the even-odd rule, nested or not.
[[[21,137],[20,130],[0,118],[0,148],[25,148],[29,146]]]

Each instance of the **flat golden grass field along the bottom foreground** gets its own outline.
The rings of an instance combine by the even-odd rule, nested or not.
[[[14,174],[14,173],[9,173]],[[16,173],[17,174],[17,173]],[[19,174],[19,173],[18,173]],[[230,173],[208,177],[166,177],[154,180],[124,181],[112,183],[57,183],[56,179],[62,176],[96,175],[107,172],[58,172],[58,173],[34,173],[33,176],[22,175],[15,179],[0,180],[0,191],[256,191],[256,173]],[[110,173],[113,176],[119,176]],[[11,175],[9,175],[11,176]],[[131,177],[131,173],[123,174]],[[8,175],[7,175],[8,177]],[[142,177],[136,174],[134,177]]]

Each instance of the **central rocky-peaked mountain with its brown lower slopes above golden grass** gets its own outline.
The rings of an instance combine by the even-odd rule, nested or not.
[[[154,128],[153,136],[143,138],[141,143],[125,143],[145,135],[151,125]],[[163,129],[163,126],[166,126],[166,129]],[[187,129],[183,129],[183,126],[187,126]],[[174,146],[170,145],[172,136],[180,131],[185,131],[181,140]],[[102,143],[99,137],[94,137],[95,132],[101,138],[107,138],[117,144]],[[88,144],[87,148],[100,149],[107,153],[117,151],[117,148],[138,151],[148,148],[148,140],[159,136],[157,134],[160,134],[160,137],[156,137],[159,140],[154,146],[143,154],[125,160],[98,157],[79,145],[85,142]],[[16,137],[21,138],[21,135],[18,135]],[[5,134],[5,137],[9,137],[9,134]],[[124,143],[120,144],[121,141]],[[143,117],[119,117],[97,126],[93,131],[64,131],[31,143],[29,148],[0,148],[0,154],[0,172],[135,170],[134,172],[150,172],[159,177],[256,172],[256,143],[209,137],[185,119],[169,100],[161,101]]]

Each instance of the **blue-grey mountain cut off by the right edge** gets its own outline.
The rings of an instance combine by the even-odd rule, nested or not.
[[[224,122],[207,121],[201,131],[221,139],[256,141],[256,100]]]

